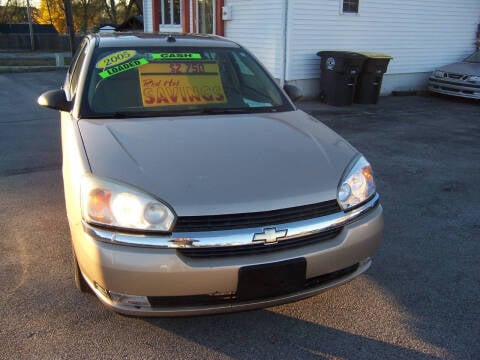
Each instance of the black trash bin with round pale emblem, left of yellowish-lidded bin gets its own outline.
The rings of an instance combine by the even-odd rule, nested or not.
[[[357,77],[365,56],[351,51],[319,51],[321,57],[320,97],[329,105],[353,103]]]

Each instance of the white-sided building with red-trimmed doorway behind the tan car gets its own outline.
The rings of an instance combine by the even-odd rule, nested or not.
[[[309,97],[319,94],[318,51],[385,53],[389,94],[425,89],[436,66],[475,50],[480,0],[144,0],[144,21],[145,31],[235,40]]]

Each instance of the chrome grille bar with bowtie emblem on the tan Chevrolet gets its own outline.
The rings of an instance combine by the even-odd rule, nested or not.
[[[271,220],[266,222],[266,225],[259,225],[259,218],[253,217],[257,222],[253,223],[254,226],[241,227],[235,230],[225,230],[225,231],[197,231],[197,232],[173,232],[171,234],[165,233],[123,233],[111,228],[101,228],[98,226],[90,225],[86,222],[82,222],[84,231],[94,238],[97,241],[102,241],[108,244],[118,244],[118,245],[128,245],[128,246],[139,246],[139,247],[153,247],[153,248],[163,248],[163,249],[175,249],[183,251],[186,249],[192,249],[196,251],[198,249],[208,249],[220,248],[220,247],[233,247],[236,249],[238,246],[248,246],[252,249],[257,245],[258,242],[254,242],[255,234],[261,234],[262,229],[266,235],[266,228],[273,228],[273,230],[279,233],[282,233],[284,230],[287,231],[285,238],[278,237],[276,238],[278,244],[284,243],[287,244],[292,241],[291,244],[294,244],[295,241],[299,240],[301,243],[294,246],[304,246],[308,244],[308,241],[324,241],[328,239],[328,236],[335,237],[335,233],[330,233],[330,230],[337,229],[340,231],[345,225],[350,224],[353,221],[365,216],[371,211],[374,211],[379,206],[379,195],[375,194],[369,201],[349,209],[348,211],[337,211],[337,204],[332,204],[329,206],[320,206],[323,211],[300,211],[291,213],[288,210],[287,213],[290,213],[288,217],[283,216],[282,214],[286,210],[279,210],[279,212],[274,211],[277,215],[277,219],[280,219],[279,223],[274,223]],[[330,202],[329,202],[330,203]],[[318,204],[317,204],[318,205]],[[312,208],[313,206],[313,208]],[[315,209],[316,205],[308,205],[306,209],[312,210]],[[306,210],[304,207],[294,208],[296,210]],[[318,210],[318,209],[317,209]],[[329,212],[332,212],[329,214]],[[318,215],[318,214],[328,214],[328,215]],[[257,214],[258,213],[254,213]],[[260,213],[266,215],[264,213]],[[292,215],[294,214],[294,215]],[[252,214],[249,214],[252,215]],[[229,215],[231,216],[231,215]],[[311,217],[314,216],[314,217]],[[304,219],[297,221],[289,221],[288,219]],[[265,220],[266,221],[266,220]],[[240,222],[241,223],[241,222]],[[230,223],[227,223],[228,226],[231,226]],[[236,224],[238,226],[238,223]],[[208,224],[208,226],[211,226]],[[225,223],[220,223],[219,226],[226,226]],[[200,224],[199,228],[205,228],[205,224]],[[218,227],[216,227],[218,229]],[[322,238],[309,239],[309,236],[322,236]],[[325,237],[323,237],[325,236]],[[258,239],[260,240],[260,239]],[[264,239],[268,242],[269,239]],[[275,249],[276,243],[268,244],[269,250]],[[260,244],[260,247],[264,246]],[[273,247],[272,247],[273,246]],[[263,248],[263,247],[262,247]],[[180,254],[180,252],[179,252]],[[209,255],[210,256],[210,255]],[[215,256],[215,255],[214,255]],[[222,256],[222,255],[220,255]]]

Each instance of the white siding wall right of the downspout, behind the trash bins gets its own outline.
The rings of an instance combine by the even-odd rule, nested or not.
[[[289,0],[287,80],[318,78],[319,50],[393,56],[388,73],[433,70],[473,52],[479,0],[360,0],[359,14],[341,14],[340,0]]]

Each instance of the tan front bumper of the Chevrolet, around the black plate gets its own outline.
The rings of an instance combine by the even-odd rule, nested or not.
[[[74,232],[73,242],[78,263],[86,281],[100,300],[115,311],[148,316],[231,312],[296,301],[341,285],[366,271],[371,263],[370,257],[382,240],[383,210],[378,204],[378,198],[372,199],[362,209],[354,218],[342,217],[346,220],[342,223],[339,223],[338,219],[333,222],[330,221],[332,219],[319,222],[323,226],[341,226],[341,231],[333,238],[309,243],[306,246],[295,246],[254,255],[189,257],[183,255],[179,248],[194,246],[195,242],[186,241],[180,246],[179,242],[167,241],[168,239],[195,239],[198,234],[188,234],[188,236],[172,234],[171,237],[155,240],[158,241],[156,246],[152,245],[151,238],[147,239],[149,246],[126,245],[125,241],[129,240],[125,237],[127,235],[106,236],[105,232],[79,226]],[[314,225],[310,224],[310,227],[307,225],[305,222],[299,222],[282,226],[288,228],[289,234],[294,236],[300,229],[315,231]],[[253,234],[260,231],[262,228],[242,230],[249,242]],[[224,235],[227,236],[228,242],[229,236],[234,234]],[[200,238],[198,243],[202,244],[202,239],[212,238],[217,239],[213,242],[214,245],[218,245],[219,241],[225,241],[225,239],[218,239],[219,234],[210,233],[209,236],[206,234],[203,236],[203,238],[198,237]],[[115,241],[118,238],[123,239],[123,243]],[[243,240],[240,238],[235,237],[236,241],[241,243]],[[160,243],[166,246],[161,246]],[[198,243],[196,246],[199,246]],[[203,242],[205,246],[212,246],[213,243],[210,240]],[[307,281],[325,274],[329,276],[325,281],[313,283],[294,293],[249,301],[235,301],[241,268],[300,258],[306,261]],[[345,269],[348,271],[344,271]],[[169,306],[134,306],[112,300],[109,293],[148,296],[149,299],[225,296],[229,300],[216,304],[185,304],[184,302],[175,304],[173,301]]]

